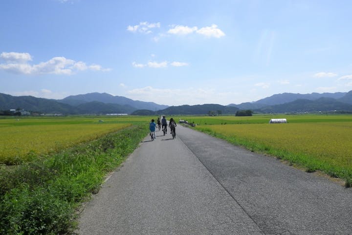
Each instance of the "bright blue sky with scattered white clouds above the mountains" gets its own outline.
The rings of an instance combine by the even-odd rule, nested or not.
[[[352,90],[351,0],[1,0],[0,93],[158,104]]]

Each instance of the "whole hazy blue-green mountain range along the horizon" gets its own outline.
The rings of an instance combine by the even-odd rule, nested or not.
[[[36,113],[135,115],[206,115],[209,111],[235,114],[250,109],[258,113],[352,112],[352,91],[348,93],[274,94],[255,102],[242,104],[167,106],[154,102],[132,100],[107,93],[70,95],[64,99],[45,99],[33,96],[12,96],[0,93],[0,110],[24,109]]]

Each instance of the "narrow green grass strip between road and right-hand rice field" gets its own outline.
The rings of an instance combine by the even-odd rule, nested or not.
[[[246,138],[241,138],[236,135],[223,135],[210,128],[197,128],[197,130],[204,132],[208,135],[220,138],[235,145],[244,146],[252,152],[265,153],[275,156],[278,159],[287,161],[289,164],[295,164],[300,167],[306,168],[307,172],[315,172],[321,170],[333,178],[341,178],[345,180],[345,187],[352,187],[352,169],[341,166],[339,164],[331,164],[327,161],[320,161],[309,154],[290,152],[284,149],[275,148],[269,144],[251,141]]]

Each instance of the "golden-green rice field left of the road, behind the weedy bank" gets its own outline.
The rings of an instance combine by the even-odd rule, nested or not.
[[[0,119],[0,163],[30,161],[32,157],[97,139],[131,123],[99,122],[92,118]]]

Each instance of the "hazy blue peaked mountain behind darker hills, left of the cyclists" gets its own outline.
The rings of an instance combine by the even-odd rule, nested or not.
[[[154,102],[132,100],[124,96],[118,96],[118,95],[113,96],[107,93],[88,93],[88,94],[70,95],[64,99],[57,100],[57,101],[61,103],[66,103],[72,106],[77,106],[87,102],[97,101],[105,104],[129,105],[130,107],[135,108],[135,110],[148,109],[152,111],[165,109],[169,107],[167,105],[160,105]]]

